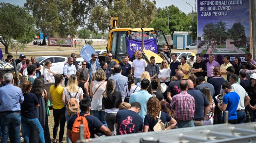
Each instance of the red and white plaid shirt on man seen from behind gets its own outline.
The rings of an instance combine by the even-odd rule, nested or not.
[[[195,99],[186,91],[181,91],[180,94],[174,95],[170,107],[175,110],[175,120],[193,120],[195,115]]]

